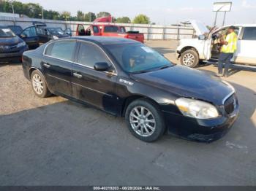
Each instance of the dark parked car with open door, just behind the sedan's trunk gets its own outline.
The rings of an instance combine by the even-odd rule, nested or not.
[[[40,44],[49,42],[51,39],[59,39],[68,37],[69,35],[64,34],[61,28],[58,27],[47,27],[45,23],[34,22],[34,26],[25,28],[20,34],[20,37],[29,45],[29,49],[35,49]]]

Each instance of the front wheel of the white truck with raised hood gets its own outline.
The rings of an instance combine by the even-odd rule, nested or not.
[[[186,50],[181,54],[181,64],[189,68],[195,68],[199,63],[199,56],[195,50]]]

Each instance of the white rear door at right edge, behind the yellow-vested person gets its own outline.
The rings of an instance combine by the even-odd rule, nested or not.
[[[256,65],[256,27],[245,27],[238,40],[238,50],[235,53],[236,63]]]

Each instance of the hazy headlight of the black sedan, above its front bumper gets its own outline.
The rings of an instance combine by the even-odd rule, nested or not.
[[[190,98],[178,98],[175,103],[181,113],[187,117],[193,117],[200,120],[219,117],[219,112],[216,107],[204,101]]]

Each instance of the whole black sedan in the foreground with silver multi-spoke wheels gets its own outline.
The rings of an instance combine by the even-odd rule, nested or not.
[[[230,84],[174,66],[130,39],[53,40],[24,52],[23,72],[39,97],[61,95],[125,117],[129,130],[143,141],[155,141],[165,132],[214,141],[238,117]]]

